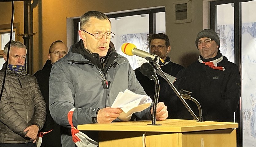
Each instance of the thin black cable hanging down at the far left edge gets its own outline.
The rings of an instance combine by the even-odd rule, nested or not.
[[[7,50],[7,60],[6,60],[5,73],[4,73],[3,83],[2,83],[2,90],[1,90],[1,94],[0,94],[0,102],[1,102],[2,95],[3,95],[3,91],[4,91],[7,66],[8,66],[8,62],[9,62],[9,52],[10,52],[10,46],[11,46],[11,41],[12,41],[12,35],[13,35],[13,20],[14,20],[14,0],[12,0],[12,18],[11,18],[11,31],[10,31],[11,35],[10,35],[10,41],[9,41],[8,50]]]

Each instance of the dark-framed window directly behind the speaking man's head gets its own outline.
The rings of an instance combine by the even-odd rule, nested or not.
[[[149,52],[148,35],[153,33],[165,33],[165,8],[143,10],[129,13],[107,15],[111,21],[111,31],[115,37],[111,39],[117,53],[126,57],[132,68],[136,69],[142,63],[147,62],[144,58],[128,56],[121,51],[123,43],[133,43],[138,49]],[[74,42],[80,37],[78,30],[80,19],[74,20]]]

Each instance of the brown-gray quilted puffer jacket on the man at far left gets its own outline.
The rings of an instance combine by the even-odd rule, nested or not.
[[[0,89],[2,89],[5,65],[0,70]],[[7,71],[3,95],[0,102],[0,143],[32,142],[23,132],[30,125],[45,123],[46,105],[36,77],[22,72],[17,76]]]

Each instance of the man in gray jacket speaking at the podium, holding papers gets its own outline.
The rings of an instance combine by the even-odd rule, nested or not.
[[[68,54],[52,66],[49,85],[50,112],[56,123],[63,126],[62,146],[74,147],[68,112],[73,113],[73,125],[111,123],[120,115],[120,108],[110,108],[120,91],[129,89],[146,95],[135,77],[128,60],[109,48],[111,22],[97,11],[80,18],[81,40],[71,46]],[[129,98],[129,97],[127,97]],[[157,120],[168,117],[167,107],[160,102]],[[151,119],[151,106],[134,113],[139,119]],[[98,132],[83,131],[98,141]],[[87,145],[88,146],[88,145]],[[91,147],[91,146],[90,146]]]

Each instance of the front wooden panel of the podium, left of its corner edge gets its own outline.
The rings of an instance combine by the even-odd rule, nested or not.
[[[178,147],[178,133],[168,132],[122,132],[100,131],[99,147],[142,147],[145,139],[146,147]]]

